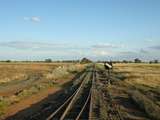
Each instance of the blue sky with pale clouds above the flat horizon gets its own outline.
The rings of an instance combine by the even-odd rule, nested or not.
[[[0,60],[160,59],[160,0],[0,0]]]

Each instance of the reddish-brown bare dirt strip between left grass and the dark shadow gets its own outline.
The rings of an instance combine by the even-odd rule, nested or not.
[[[67,80],[60,80],[59,83],[60,83],[60,85],[65,84],[65,83],[71,81],[72,78],[73,78],[73,76],[70,77]],[[46,90],[41,91],[38,94],[32,95],[30,97],[27,97],[26,99],[23,99],[20,102],[9,106],[7,108],[7,110],[6,110],[6,112],[5,112],[5,115],[3,116],[3,119],[6,119],[6,118],[8,118],[10,116],[13,116],[16,113],[18,113],[20,111],[23,111],[24,109],[29,108],[29,107],[31,107],[32,105],[34,105],[34,104],[36,104],[38,102],[43,101],[49,95],[54,94],[59,90],[62,90],[62,88],[61,87],[51,87],[51,88],[48,88]],[[43,102],[41,102],[41,104],[44,104],[45,102],[46,101],[43,101]],[[32,113],[34,111],[39,110],[40,108],[41,108],[41,105],[34,106],[33,109],[31,111],[27,111],[27,113]]]

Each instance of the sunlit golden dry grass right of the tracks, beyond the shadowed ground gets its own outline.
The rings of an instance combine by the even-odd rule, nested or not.
[[[160,87],[160,64],[115,64],[115,71],[129,84]]]

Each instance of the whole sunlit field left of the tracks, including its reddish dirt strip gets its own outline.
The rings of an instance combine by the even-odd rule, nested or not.
[[[5,114],[14,114],[7,113],[9,111],[24,109],[27,104],[31,105],[46,97],[49,92],[60,89],[61,85],[82,69],[82,65],[71,63],[0,63],[1,118]],[[36,98],[37,94],[39,96]],[[33,95],[35,100],[32,101]],[[27,99],[28,103],[24,105],[23,101]],[[19,108],[15,110],[17,106]]]

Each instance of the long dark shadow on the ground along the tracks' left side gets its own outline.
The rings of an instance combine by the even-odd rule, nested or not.
[[[78,84],[74,85],[74,81],[79,81],[83,73],[84,71],[78,73],[71,81],[63,84],[61,90],[31,105],[29,108],[19,111],[15,115],[9,116],[5,120],[45,120],[49,114],[55,111],[76,90]]]

